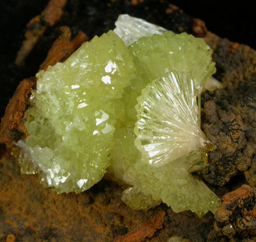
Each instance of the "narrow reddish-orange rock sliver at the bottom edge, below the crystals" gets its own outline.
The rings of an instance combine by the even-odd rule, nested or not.
[[[157,229],[163,228],[165,211],[160,211],[154,216],[152,221],[144,223],[140,228],[132,230],[124,236],[118,236],[114,242],[142,242],[146,238],[151,238]]]

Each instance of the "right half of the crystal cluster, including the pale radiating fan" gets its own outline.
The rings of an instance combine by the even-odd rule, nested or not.
[[[179,43],[183,48],[178,48]],[[125,122],[114,133],[113,158],[108,167],[110,175],[106,177],[133,185],[133,189],[125,190],[122,198],[133,209],[154,207],[162,199],[175,212],[191,210],[199,216],[208,210],[215,213],[220,204],[219,198],[190,173],[204,168],[207,164],[206,153],[214,149],[200,130],[196,100],[201,85],[215,72],[212,50],[203,40],[186,33],[175,35],[169,32],[143,37],[131,44],[129,50],[137,67],[137,75],[125,88]],[[172,60],[172,57],[175,59]],[[190,62],[186,63],[186,60]],[[177,70],[176,74],[182,73],[181,78],[167,82],[168,78],[160,78],[158,85],[154,85],[157,82],[155,78],[170,75],[171,70]],[[194,87],[196,85],[199,90]],[[162,94],[159,87],[164,89]],[[163,98],[160,99],[160,96]],[[154,109],[157,123],[149,117],[148,122],[141,120],[141,114],[137,116],[138,105],[145,104],[145,101]],[[148,106],[142,108],[146,110],[146,116]],[[148,159],[145,145],[149,149],[156,148],[151,150],[154,160]],[[168,164],[170,161],[171,164]],[[155,164],[155,167],[150,164]]]

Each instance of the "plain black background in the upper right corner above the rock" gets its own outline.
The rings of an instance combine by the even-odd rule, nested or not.
[[[255,8],[249,1],[171,1],[185,13],[205,22],[221,38],[256,49]]]

